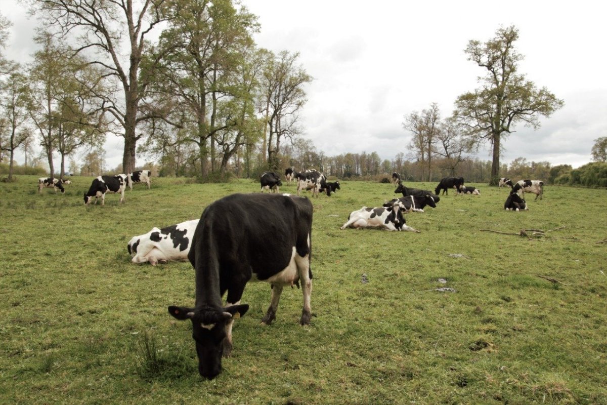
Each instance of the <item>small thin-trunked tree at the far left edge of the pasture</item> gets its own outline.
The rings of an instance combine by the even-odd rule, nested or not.
[[[19,66],[0,81],[0,149],[8,152],[8,181],[13,180],[15,150],[32,136],[27,126],[29,93],[27,77]]]

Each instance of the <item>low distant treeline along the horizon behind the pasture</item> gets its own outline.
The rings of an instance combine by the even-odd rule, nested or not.
[[[187,177],[194,179],[195,182],[223,182],[231,178],[239,179],[259,179],[265,171],[263,165],[254,168],[243,168],[237,165],[232,168],[228,176],[213,176],[202,179],[199,175],[200,168],[196,165],[166,164],[167,162],[148,162],[138,169],[149,169],[155,177]],[[366,154],[342,154],[334,157],[324,157],[319,154],[306,154],[304,156],[291,157],[284,155],[282,157],[282,169],[279,173],[281,177],[284,169],[293,167],[296,170],[305,170],[308,168],[317,168],[324,172],[330,178],[340,180],[366,180],[378,181],[389,179],[393,172],[398,172],[404,182],[427,181],[428,175],[424,172],[426,169],[419,162],[402,159],[402,154],[398,154],[393,160],[381,160],[376,152]],[[489,183],[491,162],[489,160],[480,160],[478,158],[469,158],[460,162],[456,172],[452,172],[448,162],[435,162],[436,169],[432,172],[430,179],[438,182],[443,177],[458,175],[464,177],[466,182],[470,183]],[[18,165],[13,162],[13,171],[16,175],[48,175],[48,169],[43,166],[42,160],[35,160],[33,164]],[[72,174],[96,176],[105,174],[117,174],[123,172],[122,165],[114,169],[106,169],[101,162],[88,162],[80,168],[75,166],[75,162],[70,162],[70,171]],[[8,162],[0,162],[0,175],[8,173]],[[543,180],[548,184],[586,186],[586,187],[607,187],[607,162],[591,162],[579,168],[572,168],[571,165],[552,166],[549,162],[528,162],[526,158],[519,157],[510,162],[510,165],[501,165],[500,174],[502,177],[509,177],[513,180],[534,179]],[[58,175],[55,175],[58,177]],[[2,179],[4,181],[4,178]]]

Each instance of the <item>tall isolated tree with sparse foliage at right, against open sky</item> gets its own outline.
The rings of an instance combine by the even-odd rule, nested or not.
[[[457,98],[454,115],[470,137],[492,145],[490,185],[498,183],[501,141],[519,123],[538,129],[540,115],[549,117],[563,106],[548,89],[537,89],[518,72],[523,56],[514,49],[517,39],[514,26],[500,28],[486,43],[469,41],[464,51],[487,74],[479,78],[479,89]]]

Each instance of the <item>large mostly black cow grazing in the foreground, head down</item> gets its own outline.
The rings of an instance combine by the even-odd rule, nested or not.
[[[188,254],[196,275],[195,307],[169,307],[175,318],[192,321],[200,375],[212,379],[222,371],[222,354],[232,349],[234,319],[249,309],[240,304],[248,281],[272,286],[262,319],[268,325],[276,318],[283,287],[301,282],[299,323],[310,324],[312,212],[307,198],[259,193],[232,194],[205,208]]]

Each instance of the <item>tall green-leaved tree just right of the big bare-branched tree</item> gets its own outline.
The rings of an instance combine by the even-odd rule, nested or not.
[[[245,63],[242,52],[253,46],[256,16],[244,8],[237,11],[231,0],[175,0],[162,12],[170,23],[155,50],[166,57],[160,60],[153,90],[157,99],[171,95],[171,100],[178,100],[180,116],[174,121],[193,129],[189,140],[198,146],[200,174],[206,177],[209,152],[211,170],[215,169],[215,135],[222,139],[223,148],[225,133],[218,132],[234,133],[229,127],[237,120],[220,117],[220,109],[230,110],[219,104],[244,95],[233,86],[235,78],[242,78],[238,71]]]

